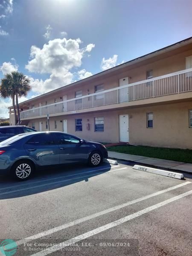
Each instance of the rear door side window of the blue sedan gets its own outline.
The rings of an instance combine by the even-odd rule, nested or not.
[[[38,134],[31,137],[26,144],[30,145],[53,145],[55,144],[54,137],[52,134]]]

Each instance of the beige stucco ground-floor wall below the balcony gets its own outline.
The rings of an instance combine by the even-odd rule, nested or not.
[[[63,122],[67,119],[67,132],[86,140],[99,142],[119,142],[119,115],[129,114],[129,138],[131,144],[151,145],[171,148],[192,149],[192,128],[189,128],[189,109],[192,102],[177,104],[156,105],[142,108],[129,108],[119,111],[105,111],[99,113],[79,114],[71,116],[50,117],[50,130],[62,131]],[[146,113],[154,114],[154,127],[147,128]],[[94,131],[94,117],[104,117],[104,132]],[[75,119],[82,118],[82,130],[75,131]],[[57,129],[54,121],[57,121]],[[39,122],[43,122],[45,129],[46,119],[35,119],[35,128],[39,129]],[[87,130],[87,123],[90,130]],[[29,126],[31,126],[29,122]]]

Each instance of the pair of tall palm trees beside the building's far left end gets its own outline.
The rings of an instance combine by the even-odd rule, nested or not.
[[[15,125],[17,124],[18,114],[18,125],[20,125],[20,111],[18,104],[18,97],[26,96],[27,92],[31,89],[30,79],[23,75],[23,73],[13,71],[10,74],[6,74],[5,78],[1,79],[0,95],[2,98],[12,98],[13,109],[15,113]],[[17,106],[17,113],[15,108],[15,101]]]

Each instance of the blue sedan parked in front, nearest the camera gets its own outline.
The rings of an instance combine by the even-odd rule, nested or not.
[[[99,166],[108,152],[101,143],[63,132],[18,134],[0,143],[0,174],[26,180],[35,170],[64,163]]]

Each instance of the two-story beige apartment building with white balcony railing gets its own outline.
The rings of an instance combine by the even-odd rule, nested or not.
[[[21,124],[40,131],[192,148],[192,38],[29,99],[20,109]],[[9,112],[13,123],[12,107]]]

